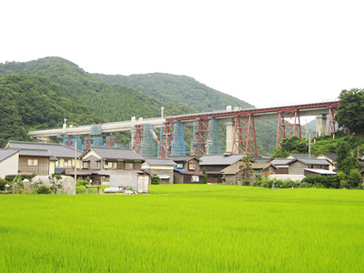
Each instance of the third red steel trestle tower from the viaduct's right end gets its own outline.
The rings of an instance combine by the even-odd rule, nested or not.
[[[257,139],[254,116],[235,116],[233,154],[257,156]]]

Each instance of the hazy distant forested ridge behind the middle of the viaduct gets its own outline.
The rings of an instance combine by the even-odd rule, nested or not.
[[[129,86],[162,102],[192,106],[198,111],[223,110],[227,106],[251,107],[237,97],[223,94],[189,76],[165,73],[131,76],[93,74],[93,76],[111,85]]]

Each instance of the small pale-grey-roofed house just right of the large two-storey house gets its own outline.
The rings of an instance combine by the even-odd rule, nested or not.
[[[176,162],[170,158],[146,158],[141,168],[152,175],[157,175],[161,184],[173,184],[175,167],[177,167]]]

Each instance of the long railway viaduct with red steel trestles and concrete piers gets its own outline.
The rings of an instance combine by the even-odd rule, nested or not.
[[[255,121],[278,119],[277,147],[279,142],[289,136],[301,138],[300,118],[302,116],[317,116],[317,132],[319,135],[330,134],[336,130],[334,116],[339,107],[339,101],[330,100],[293,106],[275,106],[264,108],[232,108],[206,113],[195,113],[180,116],[162,116],[157,118],[139,118],[134,116],[129,121],[105,123],[88,126],[66,126],[61,128],[30,131],[35,139],[49,136],[81,136],[105,135],[114,132],[131,131],[132,148],[140,154],[147,155],[147,147],[151,141],[157,141],[158,157],[186,155],[184,141],[184,126],[193,126],[194,132],[191,143],[191,154],[202,156],[216,154],[218,150],[218,126],[226,126],[227,152],[245,153],[257,156],[257,141]],[[329,123],[329,126],[328,126]],[[160,137],[154,133],[154,128],[160,127]],[[327,131],[327,128],[329,130]],[[106,146],[115,145],[115,140],[108,138]],[[147,144],[149,142],[149,145]],[[72,145],[72,142],[66,142]],[[88,146],[93,145],[92,139]],[[96,145],[96,143],[94,143]],[[150,149],[150,148],[149,148]],[[145,150],[145,151],[143,151]],[[153,157],[153,151],[149,151]]]

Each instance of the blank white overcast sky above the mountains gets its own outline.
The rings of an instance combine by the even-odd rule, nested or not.
[[[3,1],[0,63],[163,72],[275,106],[364,88],[364,1]]]

